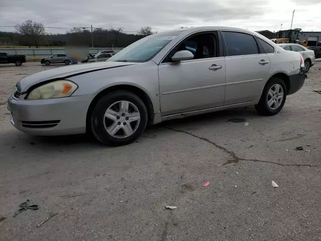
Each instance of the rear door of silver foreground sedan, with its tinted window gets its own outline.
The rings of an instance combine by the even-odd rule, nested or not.
[[[253,35],[233,31],[222,31],[222,34],[227,52],[224,105],[258,98],[268,78],[268,55],[274,54],[274,48],[269,45],[273,53],[266,54]]]

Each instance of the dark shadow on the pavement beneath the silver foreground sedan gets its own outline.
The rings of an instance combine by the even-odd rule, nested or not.
[[[253,107],[242,107],[229,110],[216,111],[212,113],[200,114],[186,118],[173,119],[146,128],[145,132],[137,139],[136,143],[143,142],[144,138],[156,139],[156,136],[165,129],[192,130],[198,127],[219,125],[226,122],[246,122],[249,119],[264,118],[257,114]],[[61,148],[114,148],[106,147],[98,142],[91,134],[70,135],[70,136],[31,136],[24,135],[19,138],[23,145],[30,144],[39,148],[59,150]],[[12,140],[14,142],[14,140]],[[10,140],[8,140],[10,142]],[[135,142],[134,142],[135,143]],[[132,144],[130,144],[132,145]],[[121,147],[120,147],[121,148]]]

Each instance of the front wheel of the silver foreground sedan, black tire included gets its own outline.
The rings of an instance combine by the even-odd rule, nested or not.
[[[128,103],[127,111],[121,110],[123,103]],[[105,116],[106,111],[114,111],[112,119]],[[127,117],[130,115],[135,115],[135,118],[139,117],[140,119],[130,121]],[[102,144],[122,146],[132,143],[140,136],[146,128],[147,120],[146,106],[137,95],[125,90],[116,90],[98,100],[91,114],[90,129],[94,137]],[[114,130],[120,129],[112,134],[113,128]],[[132,132],[132,134],[127,135],[126,132]]]

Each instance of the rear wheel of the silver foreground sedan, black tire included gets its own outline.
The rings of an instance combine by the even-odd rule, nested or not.
[[[280,92],[276,93],[275,87],[277,86],[279,87],[280,91],[281,90],[283,91],[282,94]],[[269,92],[270,90],[271,92]],[[271,97],[270,93],[272,93],[274,97]],[[283,108],[283,105],[286,99],[286,93],[287,93],[287,89],[284,81],[277,77],[271,78],[264,86],[260,101],[258,102],[257,105],[255,105],[256,110],[262,115],[277,114]],[[280,99],[281,95],[282,95],[282,99]],[[276,102],[276,99],[277,99],[277,102]]]

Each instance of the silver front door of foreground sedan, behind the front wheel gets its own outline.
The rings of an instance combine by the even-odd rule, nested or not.
[[[225,95],[225,59],[216,31],[194,34],[181,41],[158,66],[162,115],[222,106]],[[180,50],[192,60],[171,61]]]

